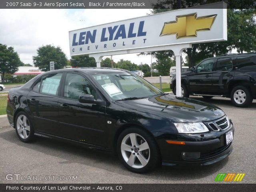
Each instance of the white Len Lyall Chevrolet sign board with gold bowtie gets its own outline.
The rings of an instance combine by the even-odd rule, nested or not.
[[[222,40],[226,9],[173,10],[69,32],[71,55]]]

